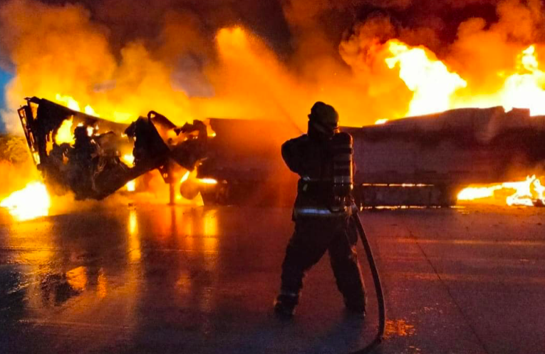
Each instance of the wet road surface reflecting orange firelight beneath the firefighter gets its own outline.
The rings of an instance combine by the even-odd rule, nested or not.
[[[545,353],[545,209],[363,212],[383,277],[375,353]],[[0,353],[348,353],[328,260],[294,321],[271,316],[289,209],[127,204],[14,222],[0,212]],[[325,257],[327,258],[327,256]]]

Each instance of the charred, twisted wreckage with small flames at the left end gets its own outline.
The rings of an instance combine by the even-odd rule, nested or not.
[[[134,190],[134,180],[154,169],[169,182],[172,161],[193,170],[204,157],[207,127],[199,121],[176,127],[150,112],[123,125],[45,99],[27,102],[19,117],[38,170],[53,191],[70,190],[76,199],[103,199],[123,186]]]

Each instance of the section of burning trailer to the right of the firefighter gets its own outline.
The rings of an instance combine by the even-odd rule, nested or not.
[[[468,185],[524,180],[545,162],[545,116],[526,109],[462,108],[344,130],[363,206],[455,205]]]

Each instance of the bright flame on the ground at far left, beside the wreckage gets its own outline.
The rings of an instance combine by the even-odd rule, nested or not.
[[[22,221],[48,215],[51,200],[43,183],[31,182],[2,200],[0,207],[9,209],[11,215]]]

